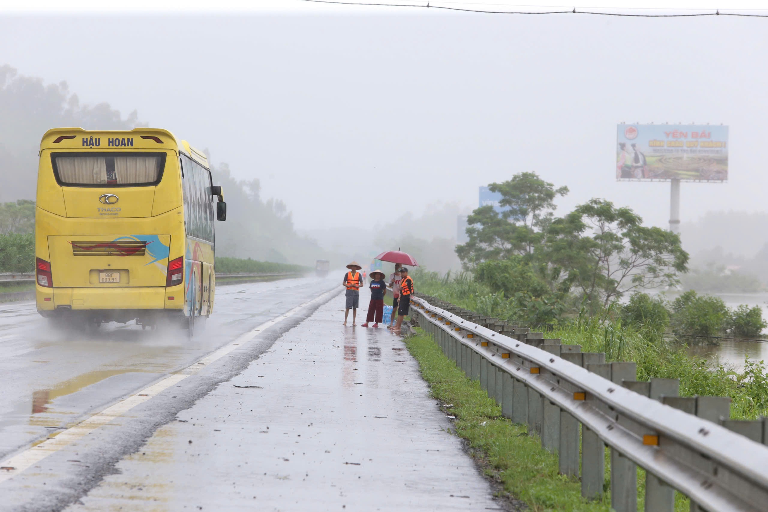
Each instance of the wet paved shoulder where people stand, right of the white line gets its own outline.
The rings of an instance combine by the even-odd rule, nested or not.
[[[341,326],[343,301],[180,411],[66,512],[500,510],[402,340]]]

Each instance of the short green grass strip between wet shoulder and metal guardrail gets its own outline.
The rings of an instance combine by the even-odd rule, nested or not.
[[[541,447],[536,434],[528,435],[528,427],[513,424],[502,417],[502,408],[456,367],[432,336],[417,329],[418,334],[406,338],[408,350],[419,362],[422,377],[429,383],[432,396],[445,404],[453,404],[450,414],[455,434],[469,442],[485,457],[486,474],[501,480],[504,490],[525,501],[531,510],[579,512],[611,509],[608,480],[602,500],[587,501],[581,497],[581,482],[558,474],[558,455]],[[610,450],[606,449],[606,474],[610,474]],[[644,471],[637,470],[638,506],[644,506]],[[689,510],[687,498],[677,494],[675,510]]]

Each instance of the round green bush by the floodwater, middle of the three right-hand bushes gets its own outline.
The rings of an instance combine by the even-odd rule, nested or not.
[[[686,291],[672,301],[670,325],[676,333],[720,336],[726,331],[729,318],[730,312],[725,302],[718,297]]]

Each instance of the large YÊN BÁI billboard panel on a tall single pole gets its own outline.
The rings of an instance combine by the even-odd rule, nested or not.
[[[725,181],[728,127],[618,125],[617,181]]]

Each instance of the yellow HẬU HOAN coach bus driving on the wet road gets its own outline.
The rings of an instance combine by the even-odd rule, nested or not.
[[[39,156],[38,312],[91,327],[178,321],[191,336],[214,308],[214,214],[227,218],[206,156],[157,128],[54,128]]]

